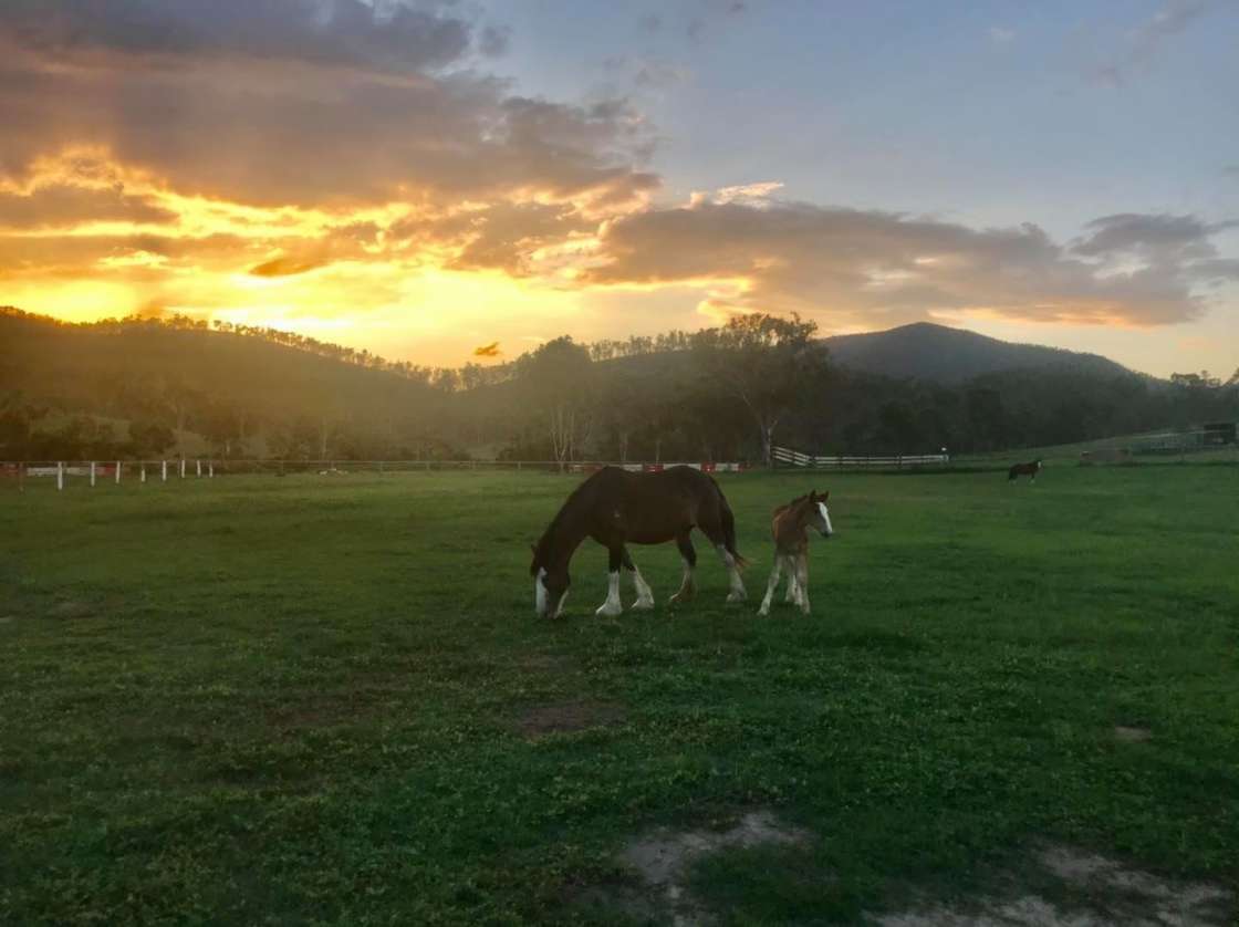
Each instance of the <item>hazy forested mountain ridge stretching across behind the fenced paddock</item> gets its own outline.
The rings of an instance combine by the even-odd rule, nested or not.
[[[960,369],[984,372],[959,379]],[[772,441],[966,452],[1233,418],[1234,379],[1157,380],[926,325],[819,340],[812,323],[746,316],[432,369],[265,328],[68,325],[0,310],[9,460],[175,454],[186,430],[222,457],[761,460]]]

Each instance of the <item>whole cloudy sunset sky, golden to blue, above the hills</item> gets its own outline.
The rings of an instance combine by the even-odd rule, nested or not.
[[[0,304],[1239,367],[1239,2],[5,0]]]

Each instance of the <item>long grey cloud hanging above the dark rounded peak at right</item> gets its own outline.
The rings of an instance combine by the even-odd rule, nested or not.
[[[1156,223],[1154,223],[1156,224]],[[1147,237],[1147,235],[1146,235]],[[875,323],[983,310],[1037,321],[1161,325],[1204,311],[1193,264],[1114,270],[1043,229],[971,229],[893,213],[700,202],[607,226],[595,284],[747,280],[750,309]]]

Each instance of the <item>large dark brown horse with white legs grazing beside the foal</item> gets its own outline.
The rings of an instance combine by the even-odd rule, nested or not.
[[[722,490],[707,473],[693,467],[668,467],[659,473],[629,473],[603,467],[581,483],[551,519],[541,539],[533,545],[534,606],[543,617],[558,616],[571,582],[567,565],[576,548],[593,538],[611,553],[607,600],[598,615],[618,615],[620,568],[632,576],[637,590],[634,608],[654,607],[654,594],[628,555],[626,544],[663,544],[674,540],[684,559],[684,580],[670,601],[693,597],[696,550],[689,537],[694,528],[710,539],[731,578],[729,602],[745,599],[740,568],[745,559],[736,550],[736,522]]]

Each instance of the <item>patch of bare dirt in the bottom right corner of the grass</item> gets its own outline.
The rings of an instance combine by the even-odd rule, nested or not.
[[[1234,894],[1217,885],[1182,882],[1070,846],[1033,855],[1040,894],[969,898],[948,907],[871,918],[881,927],[1223,927],[1234,923]],[[1030,874],[1012,875],[1027,885]]]

